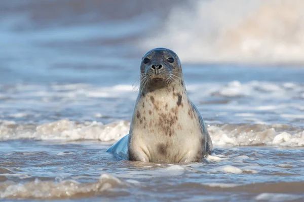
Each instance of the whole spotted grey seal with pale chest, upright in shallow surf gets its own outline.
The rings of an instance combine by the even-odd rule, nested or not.
[[[107,152],[127,160],[185,163],[213,153],[204,120],[186,93],[181,63],[165,48],[147,52],[129,134]]]

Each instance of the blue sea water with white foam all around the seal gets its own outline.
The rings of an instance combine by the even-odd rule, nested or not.
[[[304,5],[229,5],[1,1],[0,201],[304,200]],[[265,30],[259,16],[269,6]],[[206,24],[214,11],[221,15]],[[251,35],[246,49],[243,37],[233,35],[234,48],[218,29],[238,22],[234,33],[242,32],[252,19],[248,26],[263,34]],[[285,35],[272,35],[284,20]],[[129,131],[140,58],[158,46],[180,56],[189,97],[208,125],[216,155],[201,163],[105,153]]]

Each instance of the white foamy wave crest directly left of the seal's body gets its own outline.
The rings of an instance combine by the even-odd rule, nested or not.
[[[76,123],[62,119],[38,126],[16,127],[14,123],[0,125],[0,139],[30,138],[36,140],[119,140],[129,133],[130,123],[120,121],[103,125],[99,122]]]

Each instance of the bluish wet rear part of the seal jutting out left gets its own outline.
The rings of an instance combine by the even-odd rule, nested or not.
[[[124,160],[129,160],[128,138],[129,134],[120,139],[117,143],[113,144],[106,150],[106,152],[113,153]]]

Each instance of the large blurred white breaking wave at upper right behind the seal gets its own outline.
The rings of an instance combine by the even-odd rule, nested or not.
[[[303,1],[191,2],[191,9],[172,9],[144,48],[171,48],[188,63],[303,64]]]

